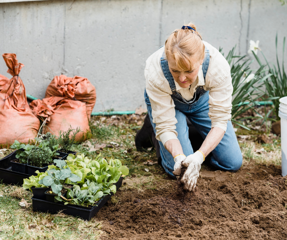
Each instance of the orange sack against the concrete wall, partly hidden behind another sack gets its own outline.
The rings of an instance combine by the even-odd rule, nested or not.
[[[85,77],[65,75],[55,76],[47,87],[45,98],[67,97],[72,100],[84,102],[88,116],[91,115],[96,103],[96,88]]]

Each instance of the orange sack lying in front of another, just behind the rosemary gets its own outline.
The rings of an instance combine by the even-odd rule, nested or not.
[[[82,141],[85,133],[90,130],[86,104],[65,97],[48,97],[37,99],[30,103],[30,108],[36,116],[47,119],[43,132],[51,132],[59,136],[59,131],[67,131],[69,128],[81,128],[82,132],[76,135],[76,141]]]

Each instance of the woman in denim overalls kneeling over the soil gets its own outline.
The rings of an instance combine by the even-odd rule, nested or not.
[[[205,157],[220,170],[237,171],[242,154],[231,124],[230,66],[192,23],[175,30],[146,61],[144,93],[148,115],[136,135],[136,146],[152,126],[159,141],[161,164],[175,178],[186,168],[181,183],[193,191]],[[203,137],[194,153],[186,117]],[[190,136],[192,138],[192,136]]]

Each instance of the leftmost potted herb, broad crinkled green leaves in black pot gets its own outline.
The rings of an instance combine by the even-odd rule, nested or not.
[[[27,173],[27,162],[29,158],[29,153],[34,146],[24,143],[20,143],[15,140],[13,145],[10,146],[12,149],[16,149],[16,159],[11,161],[12,171]]]

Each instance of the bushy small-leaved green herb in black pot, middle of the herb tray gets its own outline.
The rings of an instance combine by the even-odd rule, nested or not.
[[[59,145],[52,146],[53,151],[49,147],[49,141],[42,141],[38,146],[34,146],[29,152],[29,158],[27,168],[29,175],[36,175],[35,171],[45,172],[48,169],[48,165],[53,163],[53,157],[59,155],[57,153]]]

